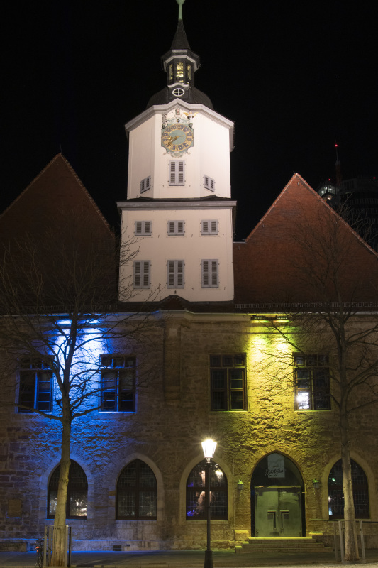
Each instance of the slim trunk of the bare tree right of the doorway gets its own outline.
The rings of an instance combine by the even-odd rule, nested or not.
[[[353,502],[352,467],[350,465],[350,449],[348,435],[348,416],[345,409],[340,408],[341,428],[341,463],[343,466],[344,520],[345,520],[345,560],[355,562],[360,559],[357,544],[357,528],[355,523],[355,505]]]

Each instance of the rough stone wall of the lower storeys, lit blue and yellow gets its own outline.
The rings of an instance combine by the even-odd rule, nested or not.
[[[178,312],[164,326],[164,339],[149,354],[156,372],[138,388],[137,412],[95,411],[73,423],[72,459],[82,466],[89,484],[87,520],[67,521],[74,550],[113,550],[120,544],[123,550],[204,547],[206,522],[187,520],[185,489],[189,472],[203,459],[200,442],[209,436],[218,442],[215,459],[228,480],[228,520],[212,522],[214,547],[250,535],[251,476],[272,452],[287,456],[301,472],[306,535],[332,535],[326,522],[327,480],[340,459],[338,415],[335,408],[294,410],[292,382],[279,363],[291,357],[291,346],[279,337],[267,345],[266,329],[251,324],[248,315]],[[267,366],[272,350],[277,361]],[[247,358],[246,410],[212,412],[209,356],[242,353]],[[11,407],[0,408],[0,413],[0,543],[31,542],[43,535],[44,525],[53,523],[46,519],[47,491],[60,459],[60,422]],[[374,406],[353,415],[352,457],[369,481],[372,520],[378,520],[378,460],[372,451],[376,429]],[[155,473],[157,520],[116,519],[117,479],[136,458]],[[313,479],[321,481],[320,488],[314,488]],[[366,524],[365,530],[372,545],[375,526]]]

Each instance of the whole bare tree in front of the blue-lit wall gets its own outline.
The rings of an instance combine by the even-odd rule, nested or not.
[[[133,252],[131,251],[133,250]],[[54,523],[52,564],[65,565],[65,522],[72,421],[101,408],[99,354],[135,353],[156,337],[145,304],[125,312],[133,300],[129,281],[118,283],[119,263],[133,262],[134,243],[116,246],[113,234],[85,212],[62,212],[59,222],[41,223],[38,235],[25,234],[4,245],[0,266],[1,386],[13,389],[18,410],[62,424],[60,478]],[[118,302],[118,293],[123,302]],[[155,290],[152,290],[151,300]],[[155,330],[155,332],[154,332]],[[158,331],[157,331],[158,333]],[[147,345],[148,344],[148,345]],[[35,361],[43,380],[54,378],[55,400],[35,400],[30,384],[18,379],[16,364]],[[156,369],[141,364],[138,384]],[[130,385],[130,388],[133,388]]]

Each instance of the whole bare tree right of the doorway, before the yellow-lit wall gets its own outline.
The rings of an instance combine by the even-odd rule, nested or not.
[[[320,408],[327,408],[330,395],[338,411],[345,559],[355,561],[359,555],[350,449],[358,447],[359,440],[351,435],[350,417],[378,401],[378,256],[326,204],[297,212],[288,242],[287,271],[274,299],[282,321],[272,318],[265,325],[270,339],[262,349],[261,370],[269,376],[268,388],[286,386],[300,395],[295,361],[287,351],[272,349],[274,337],[284,339],[302,361],[309,354],[326,357],[322,364],[329,368],[329,378],[328,371],[320,371],[313,381],[318,381]],[[302,408],[310,404],[302,401]]]

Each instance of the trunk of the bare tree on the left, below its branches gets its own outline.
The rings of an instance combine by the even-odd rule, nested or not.
[[[63,413],[65,410],[63,409]],[[54,521],[54,540],[52,544],[52,566],[67,566],[66,510],[68,474],[70,471],[71,420],[63,420],[62,454],[60,476],[57,488],[57,508]]]

